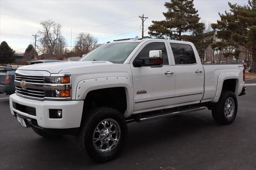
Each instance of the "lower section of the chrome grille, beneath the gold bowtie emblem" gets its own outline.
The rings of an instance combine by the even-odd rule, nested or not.
[[[16,86],[16,93],[30,96],[30,97],[37,97],[37,98],[44,98],[44,90],[43,89],[30,89],[30,88],[22,88],[20,86]]]

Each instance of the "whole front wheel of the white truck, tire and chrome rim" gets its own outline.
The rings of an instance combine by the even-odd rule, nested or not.
[[[95,161],[113,159],[121,152],[127,137],[124,116],[108,107],[96,108],[89,114],[78,135],[80,150]]]

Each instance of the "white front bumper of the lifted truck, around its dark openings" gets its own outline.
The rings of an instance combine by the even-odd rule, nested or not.
[[[36,116],[14,109],[12,106],[13,101],[20,105],[34,107],[36,109]],[[21,116],[36,119],[38,126],[41,128],[62,129],[80,127],[83,105],[84,101],[37,101],[26,99],[16,94],[10,95],[10,109],[12,115],[16,116],[18,113]],[[62,118],[50,119],[49,109],[62,109]]]

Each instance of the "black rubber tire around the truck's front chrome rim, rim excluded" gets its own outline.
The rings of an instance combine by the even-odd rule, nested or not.
[[[115,158],[123,149],[127,138],[127,124],[122,113],[109,107],[98,107],[88,113],[77,136],[79,150],[96,162],[106,162]],[[120,138],[115,148],[108,152],[100,152],[93,142],[96,126],[105,119],[114,119],[120,126]]]

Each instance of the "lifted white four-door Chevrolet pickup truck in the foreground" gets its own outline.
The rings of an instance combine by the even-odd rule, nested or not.
[[[80,61],[18,68],[10,109],[40,136],[74,134],[84,154],[106,161],[122,150],[133,121],[207,107],[217,123],[232,123],[244,74],[242,65],[202,65],[190,42],[114,40]]]

